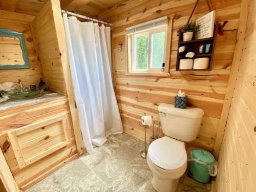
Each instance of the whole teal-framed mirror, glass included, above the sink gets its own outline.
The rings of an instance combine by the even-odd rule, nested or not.
[[[30,68],[23,33],[0,29],[0,69]]]

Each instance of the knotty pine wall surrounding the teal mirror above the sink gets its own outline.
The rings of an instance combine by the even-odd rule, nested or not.
[[[0,28],[10,29],[16,32],[22,32],[25,38],[30,69],[6,69],[0,70],[0,83],[11,81],[17,83],[22,80],[24,86],[29,84],[38,84],[41,75],[40,63],[37,60],[35,45],[30,28],[30,22],[34,16],[21,13],[14,13],[0,10]]]

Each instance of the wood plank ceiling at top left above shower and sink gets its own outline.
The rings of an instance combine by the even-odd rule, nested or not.
[[[0,0],[0,9],[36,15],[48,0]],[[58,0],[56,0],[58,1]],[[127,0],[60,0],[61,9],[97,17],[123,5]]]

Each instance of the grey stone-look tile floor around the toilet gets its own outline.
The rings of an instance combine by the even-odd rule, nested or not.
[[[155,191],[151,170],[140,157],[143,146],[141,140],[125,133],[110,136],[94,153],[73,160],[26,192]],[[176,191],[203,192],[210,191],[210,187],[185,173]]]

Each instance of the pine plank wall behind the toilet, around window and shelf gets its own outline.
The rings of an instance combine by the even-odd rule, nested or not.
[[[190,106],[201,108],[205,112],[197,139],[188,145],[213,151],[236,44],[241,1],[209,1],[211,9],[216,10],[216,20],[220,23],[228,20],[223,34],[217,36],[212,70],[176,72],[177,30],[186,24],[195,2],[196,0],[130,0],[99,15],[99,18],[114,24],[112,33],[114,81],[125,132],[143,139],[143,127],[139,126],[140,116],[153,115],[155,120],[159,121],[158,105],[174,103],[174,96],[181,89],[187,93]],[[192,19],[195,20],[207,12],[206,1],[201,0]],[[173,20],[170,77],[125,75],[127,69],[125,28],[173,14],[176,15]],[[124,45],[122,51],[118,45],[120,42]],[[147,133],[147,137],[150,137],[151,129],[148,129]]]

